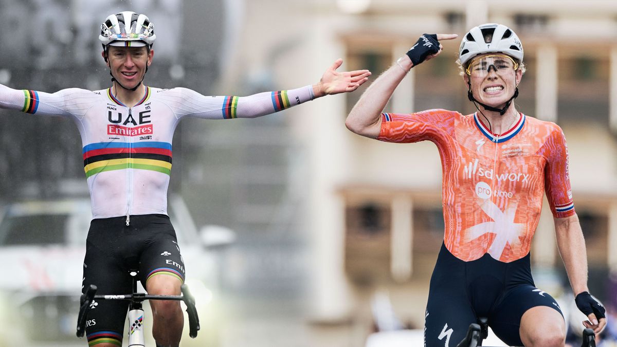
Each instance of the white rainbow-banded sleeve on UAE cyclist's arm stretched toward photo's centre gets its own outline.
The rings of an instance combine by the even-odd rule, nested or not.
[[[204,119],[255,118],[315,99],[310,85],[251,96],[204,96],[186,88],[160,92],[163,93],[161,98],[165,99],[178,119],[184,116]]]

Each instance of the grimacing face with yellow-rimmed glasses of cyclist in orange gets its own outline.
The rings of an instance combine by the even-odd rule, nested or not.
[[[523,71],[517,68],[518,64],[504,54],[481,54],[471,60],[463,78],[471,83],[471,92],[479,102],[503,107],[523,77]]]

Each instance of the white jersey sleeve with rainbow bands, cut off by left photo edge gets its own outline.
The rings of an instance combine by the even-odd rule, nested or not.
[[[0,108],[38,115],[73,116],[83,118],[93,106],[96,93],[79,88],[70,88],[45,93],[35,90],[15,90],[0,85]]]

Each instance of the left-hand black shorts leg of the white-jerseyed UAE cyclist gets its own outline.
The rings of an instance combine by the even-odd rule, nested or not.
[[[128,269],[112,253],[114,243],[100,231],[93,221],[86,241],[82,291],[93,284],[100,295],[130,293]],[[88,343],[122,343],[127,307],[128,302],[123,300],[94,300],[86,320]]]

